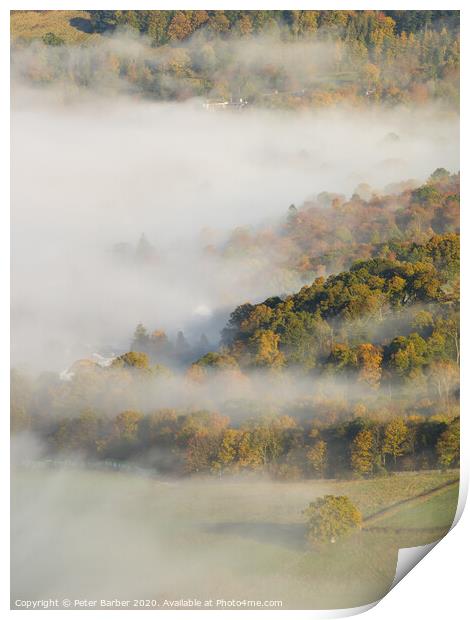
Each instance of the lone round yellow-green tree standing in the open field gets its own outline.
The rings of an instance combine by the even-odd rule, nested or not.
[[[345,495],[324,495],[311,502],[303,513],[308,519],[310,543],[336,542],[361,527],[362,515]]]

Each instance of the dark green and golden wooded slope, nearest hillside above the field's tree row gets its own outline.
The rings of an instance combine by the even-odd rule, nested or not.
[[[372,389],[435,384],[451,398],[459,365],[459,235],[353,263],[298,293],[236,308],[219,352],[195,376],[229,367],[343,374]]]

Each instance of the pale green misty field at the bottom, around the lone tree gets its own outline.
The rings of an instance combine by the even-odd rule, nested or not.
[[[362,605],[388,590],[400,547],[445,534],[458,484],[433,489],[457,475],[291,484],[18,473],[12,596],[276,599],[292,609]],[[350,538],[310,549],[301,511],[325,493],[348,495],[372,517],[370,526],[366,521]]]

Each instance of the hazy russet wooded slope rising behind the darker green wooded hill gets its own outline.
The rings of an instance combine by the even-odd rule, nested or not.
[[[385,141],[399,143],[389,134]],[[278,270],[312,280],[347,269],[368,258],[403,257],[409,242],[460,229],[460,175],[436,169],[419,187],[409,182],[376,193],[360,184],[351,198],[322,192],[299,207],[290,205],[275,228],[238,227],[220,247],[208,252],[226,260],[275,256]],[[269,267],[269,266],[268,266]]]

